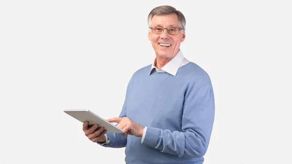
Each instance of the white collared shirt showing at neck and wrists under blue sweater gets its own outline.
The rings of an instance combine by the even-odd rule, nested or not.
[[[155,66],[156,65],[156,58],[155,58],[154,62],[152,63],[149,75],[151,74],[152,69],[155,68],[155,70],[158,73],[166,72],[166,73],[169,73],[169,74],[172,74],[173,76],[175,76],[176,73],[178,72],[179,68],[182,67],[183,65],[186,65],[189,62],[190,61],[188,61],[183,56],[183,53],[182,53],[181,50],[179,51],[179,53],[177,55],[174,56],[174,58],[172,58],[168,63],[166,63],[161,69],[158,69]],[[146,135],[146,130],[147,130],[147,127],[144,128],[144,132],[143,132],[143,136],[142,136],[142,140],[141,140],[142,144],[143,144],[143,141],[144,141],[144,138],[145,138],[145,135]],[[104,145],[104,144],[110,143],[110,140],[108,139],[107,134],[105,134],[105,137],[106,137],[106,142],[102,143],[102,144],[99,144],[99,145]]]

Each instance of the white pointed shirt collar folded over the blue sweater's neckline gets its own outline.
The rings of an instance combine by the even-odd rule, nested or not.
[[[173,59],[171,59],[168,63],[165,64],[164,67],[161,68],[161,70],[175,76],[183,62],[183,58],[184,58],[183,53],[180,50],[179,53],[175,55]],[[156,68],[155,65],[156,65],[156,58],[154,59],[154,62],[152,63],[149,75],[151,74],[152,69]]]

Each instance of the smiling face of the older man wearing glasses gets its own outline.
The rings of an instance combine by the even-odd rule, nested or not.
[[[178,16],[175,13],[164,16],[154,16],[151,20],[151,27],[155,28],[157,26],[161,26],[164,28],[169,27],[182,28]],[[179,31],[178,35],[169,35],[167,33],[167,29],[165,29],[162,34],[154,34],[150,29],[148,33],[148,38],[152,43],[152,47],[154,48],[156,57],[173,58],[175,55],[178,54],[180,50],[180,45],[185,38],[185,33],[183,30]],[[165,44],[167,45],[165,46]]]

